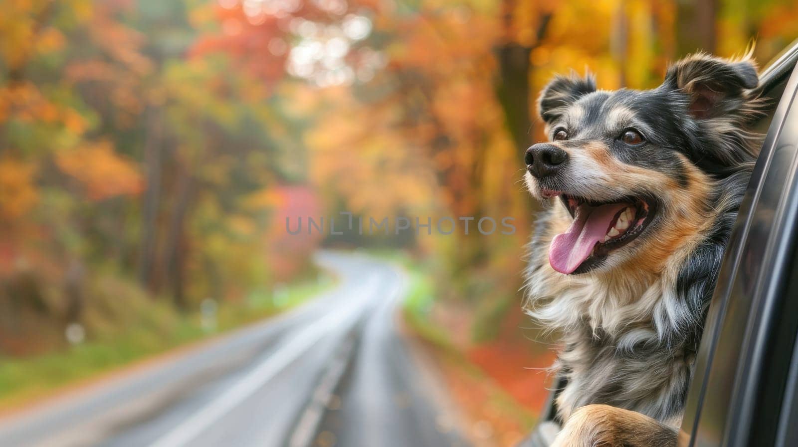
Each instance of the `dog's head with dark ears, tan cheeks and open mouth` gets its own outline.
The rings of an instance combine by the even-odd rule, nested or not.
[[[745,127],[757,83],[748,58],[706,55],[679,61],[652,90],[552,80],[539,99],[550,141],[525,154],[531,194],[567,210],[551,224],[551,267],[586,273],[667,257],[711,225],[718,182],[753,159]]]

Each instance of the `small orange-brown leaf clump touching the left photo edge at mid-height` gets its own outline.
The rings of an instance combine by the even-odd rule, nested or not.
[[[14,222],[38,202],[33,163],[8,156],[0,158],[0,220]]]

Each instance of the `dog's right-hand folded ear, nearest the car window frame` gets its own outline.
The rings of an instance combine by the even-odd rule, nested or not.
[[[757,67],[749,57],[728,61],[695,54],[671,66],[662,86],[686,93],[689,112],[705,120],[736,110],[757,84]]]

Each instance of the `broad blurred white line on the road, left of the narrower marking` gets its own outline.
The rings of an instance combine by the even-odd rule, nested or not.
[[[357,297],[353,306],[310,323],[310,327],[292,336],[278,351],[267,355],[266,359],[263,359],[255,369],[227,389],[219,398],[208,402],[202,410],[177,425],[163,437],[152,442],[149,447],[182,447],[187,445],[189,441],[199,436],[203,430],[236,406],[239,406],[241,402],[270,381],[271,378],[274,378],[275,375],[288,367],[310,347],[313,347],[327,332],[336,327],[341,327],[342,323],[354,324],[357,316],[365,308],[366,302],[377,292],[376,288],[374,288],[376,282],[377,278],[371,276],[364,286],[365,292]]]

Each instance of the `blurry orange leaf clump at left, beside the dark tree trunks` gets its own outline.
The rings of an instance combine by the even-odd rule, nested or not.
[[[139,194],[144,189],[136,164],[114,152],[108,141],[58,152],[55,162],[61,171],[81,183],[90,200]]]

